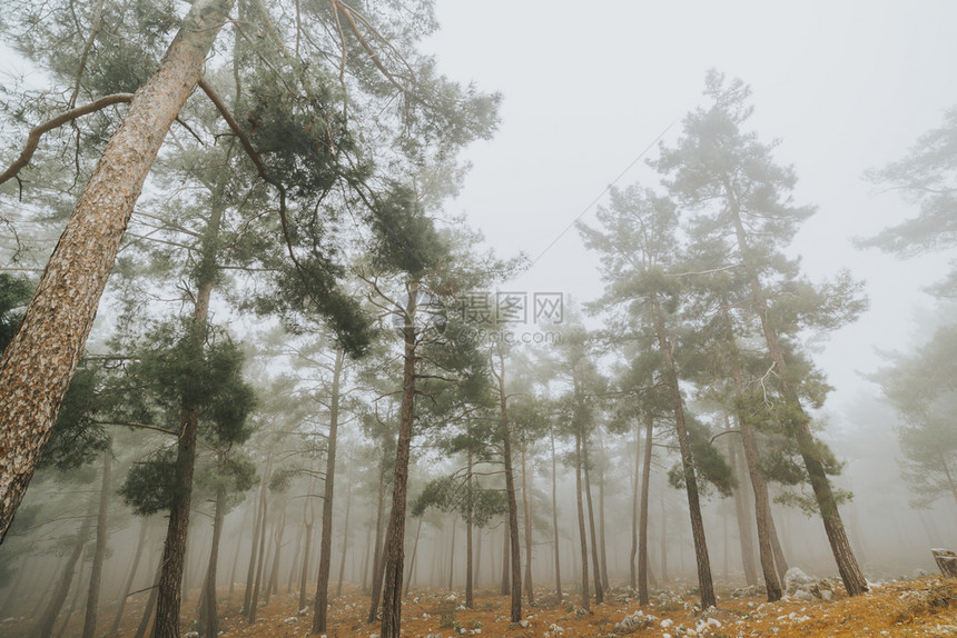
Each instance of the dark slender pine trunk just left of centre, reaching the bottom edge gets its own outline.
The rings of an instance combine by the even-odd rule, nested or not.
[[[398,419],[398,441],[395,451],[395,475],[392,484],[392,511],[385,537],[385,585],[382,604],[382,638],[399,638],[402,621],[402,577],[405,551],[405,502],[408,481],[408,455],[412,446],[412,421],[415,411],[415,307],[418,288],[408,286],[405,308],[405,356],[402,375],[402,406]]]

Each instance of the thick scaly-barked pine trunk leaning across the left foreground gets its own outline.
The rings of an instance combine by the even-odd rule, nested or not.
[[[0,538],[50,437],[142,183],[231,6],[193,3],[107,143],[7,347],[0,363]]]

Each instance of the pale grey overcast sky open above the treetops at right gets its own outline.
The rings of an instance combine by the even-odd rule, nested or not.
[[[898,261],[850,238],[912,215],[862,173],[957,104],[957,2],[437,0],[437,14],[428,47],[441,68],[504,96],[497,134],[470,149],[474,168],[447,207],[501,253],[539,256],[672,123],[673,142],[713,67],[751,86],[753,127],[781,140],[798,203],[819,207],[793,247],[808,275],[849,268],[867,281],[871,309],[817,356],[838,389],[832,409],[867,389],[857,371],[879,365],[875,348],[912,342],[915,312],[933,306],[919,288],[947,257]],[[635,180],[657,177],[640,162],[618,183]],[[586,301],[601,290],[595,268],[572,229],[509,287]]]

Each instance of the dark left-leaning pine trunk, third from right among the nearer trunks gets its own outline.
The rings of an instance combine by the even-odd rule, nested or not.
[[[671,395],[674,410],[674,430],[678,433],[678,447],[681,452],[681,466],[684,475],[684,491],[688,495],[688,511],[691,517],[691,536],[694,540],[694,559],[698,564],[698,587],[701,595],[701,608],[714,607],[714,584],[711,579],[711,561],[708,557],[708,542],[704,539],[704,521],[701,518],[701,502],[698,497],[698,479],[694,472],[694,460],[691,458],[691,447],[688,442],[688,429],[684,425],[684,406],[681,401],[681,389],[678,387],[678,371],[671,342],[664,329],[661,306],[658,298],[652,296],[651,315],[658,333],[658,347],[664,358],[664,376]]]

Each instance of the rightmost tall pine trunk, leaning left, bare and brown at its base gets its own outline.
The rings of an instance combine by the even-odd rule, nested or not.
[[[771,357],[771,362],[775,365],[775,372],[780,378],[781,395],[788,407],[791,416],[788,418],[787,429],[795,441],[798,443],[798,451],[805,461],[805,468],[808,471],[808,478],[811,484],[811,489],[815,492],[818,511],[821,515],[821,520],[825,525],[825,532],[828,536],[828,542],[831,546],[831,552],[837,562],[838,571],[843,581],[845,589],[849,596],[858,596],[867,591],[867,580],[857,558],[851,549],[850,541],[847,537],[847,530],[843,527],[840,511],[838,510],[837,498],[835,498],[831,489],[830,479],[825,471],[823,462],[817,441],[808,426],[809,419],[801,406],[800,397],[797,390],[788,380],[788,363],[785,358],[785,351],[778,341],[778,332],[770,321],[770,309],[768,308],[768,299],[758,278],[758,273],[753,265],[749,262],[752,252],[748,246],[748,236],[744,230],[744,225],[741,221],[740,207],[737,196],[730,183],[724,185],[726,196],[731,209],[731,220],[734,223],[734,231],[738,239],[738,250],[741,253],[748,267],[748,277],[751,286],[751,302],[754,311],[761,320],[761,329],[764,333],[764,341],[768,346],[768,355]]]

